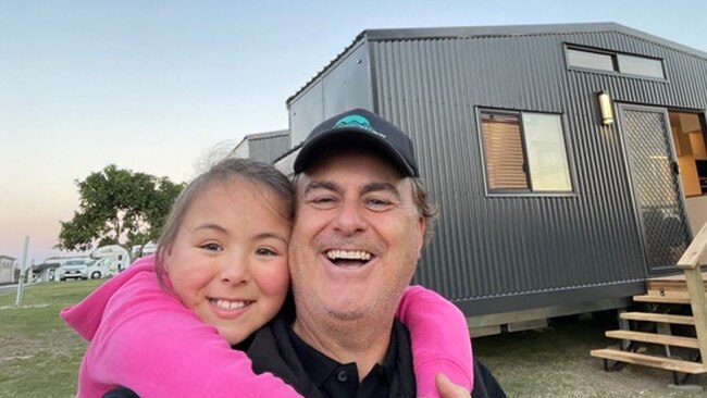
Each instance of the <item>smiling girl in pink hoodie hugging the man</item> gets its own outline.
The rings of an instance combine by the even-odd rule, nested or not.
[[[232,349],[285,301],[293,214],[290,183],[265,163],[226,159],[191,182],[156,256],[62,311],[89,341],[78,397],[115,386],[145,397],[297,397],[272,374],[253,374],[245,353]],[[418,395],[438,396],[438,372],[471,390],[471,345],[459,310],[410,287],[398,316],[410,329]]]

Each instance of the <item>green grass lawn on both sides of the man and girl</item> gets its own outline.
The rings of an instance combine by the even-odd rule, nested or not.
[[[27,287],[24,306],[0,310],[0,397],[72,397],[86,344],[59,319],[100,281],[52,282]],[[0,307],[13,306],[15,293],[0,293]],[[670,372],[629,365],[604,372],[593,348],[613,341],[591,318],[539,331],[474,339],[474,353],[493,371],[509,397],[707,397],[707,393],[668,387]],[[705,375],[689,384],[707,388]]]

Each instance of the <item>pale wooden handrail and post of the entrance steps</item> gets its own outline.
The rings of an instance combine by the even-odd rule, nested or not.
[[[702,363],[707,366],[707,299],[705,298],[702,270],[698,265],[705,252],[707,252],[707,223],[703,225],[697,236],[695,236],[680,260],[678,260],[678,266],[685,273],[685,283],[687,284],[692,315],[695,319],[695,331],[697,333]]]

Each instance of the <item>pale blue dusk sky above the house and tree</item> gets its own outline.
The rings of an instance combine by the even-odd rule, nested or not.
[[[616,22],[707,52],[705,0],[0,0],[0,256],[52,249],[108,164],[191,178],[287,128],[286,99],[368,28]]]

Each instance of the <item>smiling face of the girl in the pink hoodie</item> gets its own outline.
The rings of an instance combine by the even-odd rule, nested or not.
[[[270,321],[287,294],[292,224],[270,189],[236,176],[194,201],[164,265],[179,300],[230,344]]]

